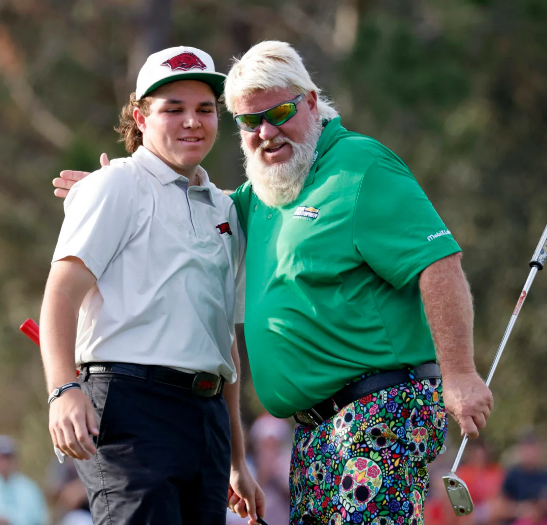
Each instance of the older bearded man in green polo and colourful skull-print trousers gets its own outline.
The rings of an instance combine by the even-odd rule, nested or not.
[[[236,60],[225,97],[248,177],[232,198],[251,372],[266,409],[299,423],[291,523],[422,523],[446,411],[476,437],[493,402],[461,250],[408,166],[342,127],[289,44]]]

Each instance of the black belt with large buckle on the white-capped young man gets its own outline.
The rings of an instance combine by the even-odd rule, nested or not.
[[[197,396],[212,397],[222,392],[224,378],[207,372],[190,374],[166,366],[136,365],[133,363],[86,363],[82,365],[84,380],[89,376],[120,374],[150,379],[154,383],[178,386]]]

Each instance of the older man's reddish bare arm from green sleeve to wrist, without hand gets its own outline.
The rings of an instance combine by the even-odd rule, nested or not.
[[[461,253],[423,270],[420,291],[443,376],[474,372],[473,299],[461,267]]]

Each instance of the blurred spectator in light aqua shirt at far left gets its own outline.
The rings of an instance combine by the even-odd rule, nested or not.
[[[42,491],[16,468],[15,441],[0,435],[0,525],[46,525],[49,514]]]

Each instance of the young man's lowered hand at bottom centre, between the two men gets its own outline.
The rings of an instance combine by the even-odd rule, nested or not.
[[[258,525],[257,516],[265,514],[264,492],[251,476],[247,465],[230,471],[230,488],[228,491],[229,509],[242,518],[249,519],[249,525]]]

